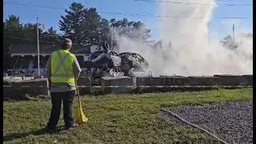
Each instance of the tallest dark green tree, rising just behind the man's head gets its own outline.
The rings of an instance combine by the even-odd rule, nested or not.
[[[60,30],[64,37],[72,39],[78,45],[86,46],[110,41],[108,20],[101,18],[95,8],[86,9],[80,3],[72,3],[70,10],[61,16]]]

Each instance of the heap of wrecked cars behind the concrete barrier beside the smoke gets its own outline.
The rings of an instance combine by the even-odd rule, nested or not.
[[[105,42],[102,50],[98,50],[90,55],[90,65],[93,68],[92,77],[116,77],[116,76],[132,76],[134,72],[144,72],[144,68],[148,66],[145,58],[141,55],[131,52],[117,54],[109,49],[109,45]]]

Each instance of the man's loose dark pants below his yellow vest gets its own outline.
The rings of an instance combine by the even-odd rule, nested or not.
[[[62,101],[63,101],[63,114],[65,127],[70,128],[74,126],[74,118],[72,116],[73,101],[75,91],[66,92],[51,92],[51,113],[47,126],[54,129],[58,124],[58,119],[61,114]]]

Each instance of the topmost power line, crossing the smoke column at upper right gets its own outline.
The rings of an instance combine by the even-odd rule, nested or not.
[[[218,5],[218,6],[253,6],[252,4],[226,4],[226,3],[199,3],[199,2],[172,2],[172,1],[155,1],[155,0],[134,0],[135,2],[165,2],[172,4],[186,4],[186,5]]]

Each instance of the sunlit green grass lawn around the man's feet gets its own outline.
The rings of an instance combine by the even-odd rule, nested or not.
[[[162,117],[159,107],[252,101],[252,89],[82,97],[89,121],[74,130],[45,134],[50,99],[3,103],[5,143],[216,143],[202,131]],[[74,102],[74,114],[77,100]],[[63,126],[63,118],[59,126]],[[57,140],[57,141],[56,141]]]

